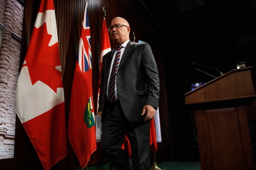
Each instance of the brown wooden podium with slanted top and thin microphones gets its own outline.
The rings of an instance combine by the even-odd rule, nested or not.
[[[245,107],[256,99],[251,69],[232,70],[185,94],[195,112],[203,170],[256,169]]]

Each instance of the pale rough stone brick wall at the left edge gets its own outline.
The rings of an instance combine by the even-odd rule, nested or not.
[[[0,0],[0,159],[13,158],[15,90],[19,74],[24,7],[17,0]]]

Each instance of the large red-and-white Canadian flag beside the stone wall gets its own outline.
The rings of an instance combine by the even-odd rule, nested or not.
[[[53,0],[41,0],[16,88],[15,111],[44,169],[67,155],[64,90]]]

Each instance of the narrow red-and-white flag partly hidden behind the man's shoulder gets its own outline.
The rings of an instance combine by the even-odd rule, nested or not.
[[[107,54],[109,51],[111,51],[110,42],[109,42],[109,36],[108,36],[108,28],[106,25],[105,18],[102,22],[102,34],[101,34],[101,46],[100,46],[100,59],[99,59],[99,73],[101,73],[101,67],[102,67],[102,58],[105,54]],[[100,77],[100,75],[99,75]],[[99,78],[100,83],[100,78]],[[99,88],[98,88],[98,103],[97,103],[97,110],[99,108]]]

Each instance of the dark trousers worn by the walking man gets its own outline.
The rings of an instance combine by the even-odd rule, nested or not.
[[[149,170],[149,123],[128,121],[119,102],[106,101],[105,106],[101,135],[103,153],[118,170],[129,170],[129,158],[121,148],[126,134],[132,149],[133,170]]]

